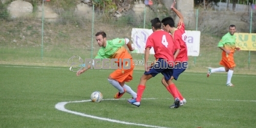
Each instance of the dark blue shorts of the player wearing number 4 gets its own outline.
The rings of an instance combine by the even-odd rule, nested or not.
[[[165,80],[169,80],[173,75],[174,62],[167,62],[165,59],[158,58],[153,66],[150,67],[148,72],[144,72],[145,75],[151,74],[155,77],[157,74],[162,73]]]

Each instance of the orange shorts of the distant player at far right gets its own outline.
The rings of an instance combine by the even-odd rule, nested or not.
[[[222,52],[222,59],[220,61],[220,65],[228,68],[236,67],[236,63],[234,63],[233,53],[226,54]]]

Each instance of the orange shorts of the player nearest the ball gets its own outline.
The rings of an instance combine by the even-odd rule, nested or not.
[[[132,64],[133,60],[131,59],[131,68],[130,69],[118,69],[115,70],[113,73],[110,74],[110,76],[115,79],[118,82],[129,82],[133,79],[133,69],[134,65]]]

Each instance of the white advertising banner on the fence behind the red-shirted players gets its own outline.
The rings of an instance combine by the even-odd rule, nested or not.
[[[153,33],[152,29],[132,29],[132,41],[135,46],[135,50],[132,53],[142,53],[145,52],[146,39]],[[188,56],[199,56],[200,51],[200,31],[187,31],[186,45],[187,45],[187,55]],[[150,54],[155,54],[154,49],[150,50]]]

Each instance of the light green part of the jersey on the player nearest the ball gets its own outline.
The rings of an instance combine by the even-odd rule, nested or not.
[[[124,38],[115,38],[113,40],[106,40],[106,47],[101,47],[95,58],[111,58],[123,45],[125,44]]]

